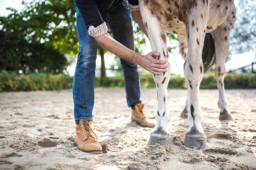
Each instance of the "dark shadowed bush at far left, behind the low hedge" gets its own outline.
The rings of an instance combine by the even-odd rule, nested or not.
[[[17,34],[0,31],[0,70],[63,73],[67,59],[57,50],[40,43],[17,39]]]

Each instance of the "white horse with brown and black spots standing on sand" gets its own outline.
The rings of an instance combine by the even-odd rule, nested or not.
[[[188,117],[189,128],[184,145],[203,149],[206,136],[199,106],[199,86],[203,73],[215,63],[219,89],[220,120],[231,120],[224,92],[225,59],[229,49],[229,33],[235,22],[233,0],[139,0],[142,21],[157,59],[167,60],[166,32],[178,34],[180,52],[185,60],[184,75],[188,84],[186,107],[182,117]],[[169,64],[169,62],[168,62]],[[169,64],[170,65],[170,64]],[[153,75],[157,87],[156,126],[149,145],[168,145],[171,136],[167,128],[170,118],[167,86],[170,68],[162,75]]]

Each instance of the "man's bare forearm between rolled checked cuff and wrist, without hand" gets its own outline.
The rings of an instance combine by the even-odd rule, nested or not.
[[[121,43],[110,37],[109,34],[95,37],[95,40],[100,46],[115,54],[116,56],[126,59],[127,61],[130,61],[132,63],[140,64],[140,60],[142,57],[141,55],[126,48]]]

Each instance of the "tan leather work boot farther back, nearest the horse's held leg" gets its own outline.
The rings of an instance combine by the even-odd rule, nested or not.
[[[137,124],[145,127],[155,127],[155,123],[152,119],[146,117],[143,112],[144,104],[137,103],[134,105],[134,110],[132,109],[132,121],[137,122]]]

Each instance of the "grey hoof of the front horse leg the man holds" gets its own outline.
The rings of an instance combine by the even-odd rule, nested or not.
[[[170,134],[157,134],[157,133],[152,133],[150,134],[149,138],[149,143],[147,145],[155,145],[155,144],[160,144],[160,145],[169,145],[171,144],[171,136]]]

